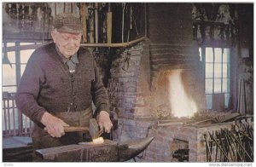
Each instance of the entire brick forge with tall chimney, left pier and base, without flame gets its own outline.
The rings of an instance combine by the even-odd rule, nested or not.
[[[113,130],[113,140],[126,141],[154,135],[154,141],[136,158],[137,161],[178,161],[179,159],[173,158],[173,154],[181,149],[189,153],[189,162],[206,162],[202,134],[223,126],[229,127],[229,124],[212,124],[206,128],[184,126],[184,123],[193,120],[186,119],[183,122],[180,121],[183,118],[178,118],[182,115],[177,117],[172,113],[172,107],[176,106],[173,101],[171,104],[169,101],[175,97],[170,98],[168,95],[169,83],[172,84],[169,74],[172,72],[180,73],[178,86],[182,86],[186,98],[195,103],[196,111],[193,112],[206,111],[206,99],[204,69],[191,29],[191,5],[167,6],[149,5],[149,39],[121,50],[114,56],[108,82],[111,110],[117,113],[118,118],[118,128]],[[159,19],[162,12],[174,11],[183,17],[163,14],[167,18]],[[179,105],[183,106],[183,103]],[[177,112],[185,111],[180,109]],[[160,121],[166,121],[168,125],[160,125]]]

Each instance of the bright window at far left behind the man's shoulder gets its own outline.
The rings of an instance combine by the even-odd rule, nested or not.
[[[20,47],[21,45],[31,45],[35,43],[3,43],[3,46]],[[11,48],[9,48],[11,49]],[[3,110],[2,110],[2,130],[3,136],[9,135],[31,135],[32,121],[25,115],[20,114],[15,106],[15,92],[20,82],[27,60],[32,55],[34,49],[24,49],[3,53]]]

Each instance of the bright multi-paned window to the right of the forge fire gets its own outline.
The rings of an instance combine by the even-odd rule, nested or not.
[[[224,93],[224,105],[230,101],[230,49],[200,48],[201,60],[205,64],[205,93],[207,108],[212,109],[212,95]]]

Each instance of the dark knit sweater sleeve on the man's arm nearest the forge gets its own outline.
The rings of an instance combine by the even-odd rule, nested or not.
[[[92,82],[91,94],[93,102],[96,106],[96,114],[101,111],[106,111],[109,113],[107,89],[102,83],[102,78],[100,76],[99,69],[96,66],[95,60],[93,60],[93,68],[95,72],[95,79]]]

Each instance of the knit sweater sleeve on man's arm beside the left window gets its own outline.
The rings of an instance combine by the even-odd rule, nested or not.
[[[35,123],[40,123],[44,112],[46,112],[44,107],[40,107],[37,102],[40,85],[44,82],[44,72],[39,66],[40,61],[34,52],[26,64],[15,95],[16,106],[20,112],[23,112]]]

